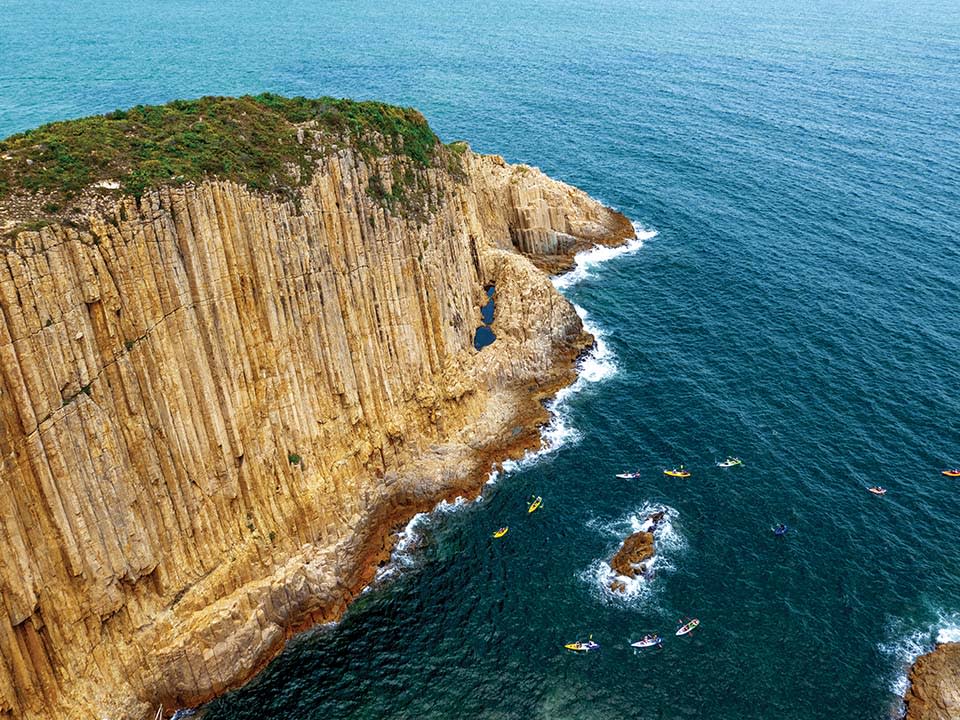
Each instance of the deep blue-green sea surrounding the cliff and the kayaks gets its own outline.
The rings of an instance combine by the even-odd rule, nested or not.
[[[422,521],[394,577],[208,717],[885,718],[904,662],[960,627],[954,0],[0,17],[0,136],[201,94],[378,98],[658,233],[565,289],[610,353],[559,408],[579,438]],[[660,570],[612,598],[599,563],[655,505]],[[634,655],[651,630],[664,649]],[[590,633],[599,652],[562,650]]]

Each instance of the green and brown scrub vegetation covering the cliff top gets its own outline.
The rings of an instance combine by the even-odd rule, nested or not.
[[[367,159],[386,152],[419,167],[434,165],[444,147],[419,112],[379,102],[272,94],[176,100],[50,123],[0,141],[0,200],[35,195],[37,209],[53,215],[98,183],[139,197],[211,177],[287,192],[313,174],[317,148],[303,141],[304,126],[328,148],[346,142]]]

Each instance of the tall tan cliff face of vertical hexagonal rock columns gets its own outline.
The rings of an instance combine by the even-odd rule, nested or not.
[[[570,379],[590,338],[517,250],[558,268],[625,218],[469,151],[408,218],[317,162],[297,202],[207,181],[0,242],[0,716],[242,682]]]

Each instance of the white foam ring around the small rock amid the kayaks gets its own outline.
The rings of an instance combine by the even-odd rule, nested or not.
[[[650,516],[657,512],[665,513],[654,535],[654,556],[647,562],[646,572],[631,578],[618,575],[608,562],[617,550],[623,538],[635,532],[649,530],[652,526]],[[636,512],[612,522],[591,521],[587,527],[611,539],[608,552],[603,558],[594,560],[580,573],[580,579],[586,582],[595,597],[604,603],[620,605],[645,604],[656,590],[656,578],[665,572],[676,570],[674,559],[687,547],[686,540],[676,527],[677,511],[667,505],[646,503]],[[622,592],[610,589],[614,581],[622,583]]]

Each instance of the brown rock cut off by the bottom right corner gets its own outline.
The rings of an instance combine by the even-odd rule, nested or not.
[[[960,643],[944,643],[919,657],[910,671],[907,720],[960,718]]]

